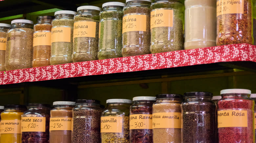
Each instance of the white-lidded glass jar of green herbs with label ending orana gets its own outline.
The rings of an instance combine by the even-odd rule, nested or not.
[[[72,63],[75,11],[60,10],[52,21],[51,65]]]

